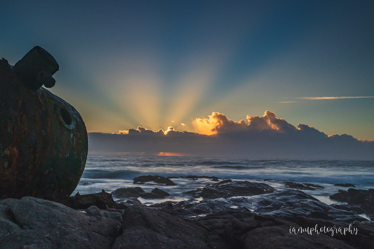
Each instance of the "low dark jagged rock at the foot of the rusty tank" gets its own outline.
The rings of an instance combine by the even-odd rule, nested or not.
[[[79,194],[79,192],[75,196],[71,196],[67,199],[56,200],[56,202],[62,203],[65,206],[71,207],[73,209],[88,209],[90,206],[96,206],[99,209],[108,209],[108,208],[115,208],[115,209],[125,209],[126,207],[116,203],[112,195],[106,193],[102,190],[100,193],[95,194]]]

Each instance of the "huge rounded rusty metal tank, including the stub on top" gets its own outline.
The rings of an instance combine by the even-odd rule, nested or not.
[[[63,99],[37,87],[54,84],[52,75],[58,70],[52,55],[43,49],[51,57],[45,59],[40,49],[17,62],[18,67],[24,61],[22,70],[0,60],[0,199],[66,198],[85,168],[88,138],[82,117]],[[33,67],[28,64],[33,58],[42,62]]]

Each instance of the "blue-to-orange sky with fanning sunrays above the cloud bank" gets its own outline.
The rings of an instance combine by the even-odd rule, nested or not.
[[[373,1],[4,1],[0,57],[14,65],[33,46],[50,52],[60,67],[49,90],[88,132],[202,133],[196,120],[212,112],[248,124],[247,115],[269,110],[295,127],[373,140],[373,9]]]

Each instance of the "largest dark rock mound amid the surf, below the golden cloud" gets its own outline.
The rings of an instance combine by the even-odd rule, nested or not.
[[[249,181],[230,181],[218,184],[207,184],[204,188],[187,191],[185,193],[203,198],[217,199],[232,196],[253,196],[257,194],[266,194],[274,192],[274,188],[265,183]]]

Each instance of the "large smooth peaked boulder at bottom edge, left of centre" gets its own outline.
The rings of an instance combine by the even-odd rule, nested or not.
[[[131,206],[122,221],[123,232],[114,242],[120,248],[209,248],[208,231],[193,221],[176,218],[157,209]]]

